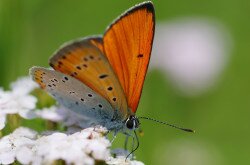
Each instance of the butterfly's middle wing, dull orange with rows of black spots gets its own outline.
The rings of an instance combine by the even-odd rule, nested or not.
[[[66,44],[50,59],[55,70],[75,77],[106,98],[122,117],[128,115],[123,89],[107,58],[101,37],[85,38]]]

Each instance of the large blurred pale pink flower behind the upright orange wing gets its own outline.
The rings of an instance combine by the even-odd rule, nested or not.
[[[183,19],[158,24],[152,68],[167,72],[183,94],[200,94],[216,82],[228,61],[231,38],[215,22]]]

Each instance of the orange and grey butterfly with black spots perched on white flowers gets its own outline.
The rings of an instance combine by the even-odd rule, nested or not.
[[[50,59],[53,69],[32,67],[30,75],[61,105],[110,131],[139,127],[135,116],[154,38],[152,2],[118,17],[103,36],[64,44]]]

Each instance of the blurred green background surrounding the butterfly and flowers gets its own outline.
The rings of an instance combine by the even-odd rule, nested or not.
[[[0,86],[7,88],[33,65],[48,66],[64,42],[102,34],[131,0],[1,0]],[[248,0],[153,1],[156,20],[204,16],[223,23],[233,53],[216,87],[185,97],[160,71],[148,73],[138,116],[150,116],[196,130],[195,134],[141,121],[137,159],[145,164],[250,164],[250,2]],[[156,24],[157,24],[156,22]],[[123,146],[123,137],[116,146]],[[176,160],[175,160],[176,159]]]

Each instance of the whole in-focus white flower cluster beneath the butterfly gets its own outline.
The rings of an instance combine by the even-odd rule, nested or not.
[[[30,78],[25,77],[11,84],[10,91],[0,89],[0,133],[6,125],[7,115],[13,114],[19,115],[22,120],[41,118],[62,124],[67,127],[67,131],[38,133],[20,126],[10,134],[2,134],[0,164],[18,161],[21,164],[39,165],[62,161],[76,165],[94,165],[100,162],[113,165],[143,165],[139,161],[126,160],[127,154],[113,157],[113,152],[110,151],[111,143],[105,136],[108,132],[106,128],[96,126],[81,129],[82,118],[61,106],[37,109],[38,99],[30,94],[37,87]]]

